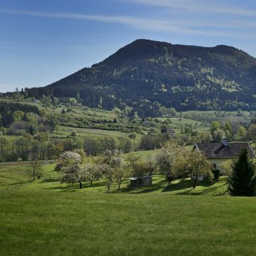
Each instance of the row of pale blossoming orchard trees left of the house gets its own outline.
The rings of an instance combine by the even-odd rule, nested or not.
[[[106,150],[104,156],[96,161],[86,158],[81,150],[65,152],[56,170],[61,172],[63,183],[79,183],[80,188],[83,182],[89,181],[92,185],[92,181],[103,177],[108,192],[114,181],[120,189],[127,177],[137,177],[141,182],[143,177],[154,173],[164,175],[168,183],[177,177],[190,177],[194,188],[201,176],[213,179],[212,165],[205,156],[186,150],[177,143],[167,143],[146,160],[137,154],[130,154],[124,159],[123,152],[119,150]]]

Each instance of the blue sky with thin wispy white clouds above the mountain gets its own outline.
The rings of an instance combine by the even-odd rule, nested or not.
[[[137,38],[256,57],[255,0],[0,0],[0,91],[46,86]]]

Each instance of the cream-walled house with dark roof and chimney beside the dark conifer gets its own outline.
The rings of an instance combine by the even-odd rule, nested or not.
[[[222,163],[236,158],[243,148],[247,148],[251,158],[256,158],[248,142],[228,142],[227,139],[223,139],[222,143],[195,143],[194,145],[194,150],[205,154],[214,169],[220,170],[220,174],[224,174],[221,168]]]

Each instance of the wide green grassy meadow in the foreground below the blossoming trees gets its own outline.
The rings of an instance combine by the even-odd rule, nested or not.
[[[191,189],[156,176],[107,194],[103,180],[79,189],[43,168],[7,190],[27,180],[26,163],[0,165],[0,255],[255,255],[255,197],[229,197],[224,177]]]

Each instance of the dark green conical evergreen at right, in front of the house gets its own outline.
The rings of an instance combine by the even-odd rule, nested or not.
[[[228,192],[236,196],[253,196],[255,188],[255,163],[244,148],[232,164],[232,173],[228,178]]]

